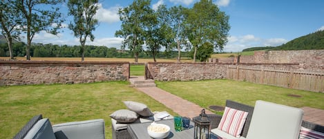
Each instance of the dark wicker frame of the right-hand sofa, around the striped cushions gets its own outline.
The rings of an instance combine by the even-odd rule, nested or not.
[[[243,138],[247,138],[247,133],[249,131],[249,127],[252,120],[252,115],[254,113],[254,107],[249,106],[246,104],[241,104],[239,102],[234,102],[232,100],[226,100],[226,106],[231,107],[233,109],[238,109],[240,111],[246,111],[249,114],[247,115],[247,120],[245,121],[244,127],[242,129],[242,133],[240,134]],[[222,115],[216,115],[216,114],[209,114],[209,119],[211,120],[211,129],[215,129],[218,127],[218,124],[220,123],[220,120],[222,118]],[[314,124],[312,122],[302,121],[301,127],[305,127],[307,129],[312,129],[314,131],[318,131],[321,133],[324,133],[324,127],[319,124]]]

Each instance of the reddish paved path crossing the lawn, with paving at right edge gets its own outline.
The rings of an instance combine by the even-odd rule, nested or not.
[[[142,78],[144,77],[137,77]],[[138,79],[137,79],[138,80]],[[164,104],[168,108],[172,109],[175,113],[182,115],[184,117],[193,118],[199,115],[202,107],[184,100],[176,95],[166,92],[158,87],[140,87],[137,88],[139,91],[150,95],[152,98],[158,102]],[[316,124],[321,124],[324,126],[324,110],[314,109],[310,107],[301,108],[304,110],[303,120],[314,122]],[[206,113],[212,113],[211,111],[206,111]]]

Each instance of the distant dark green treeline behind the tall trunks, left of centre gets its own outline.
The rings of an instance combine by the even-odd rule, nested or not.
[[[15,57],[24,57],[26,55],[26,44],[18,42],[13,44],[13,55]],[[189,57],[189,52],[182,52],[182,57]],[[30,47],[32,57],[81,57],[80,46],[59,46],[56,44],[33,44]],[[117,50],[117,48],[108,48],[106,46],[86,46],[85,57],[116,57],[132,58],[133,54],[129,50]],[[175,58],[178,51],[160,52],[158,58]],[[6,43],[0,44],[0,57],[9,57],[9,49]],[[151,58],[149,53],[143,51],[141,58]]]

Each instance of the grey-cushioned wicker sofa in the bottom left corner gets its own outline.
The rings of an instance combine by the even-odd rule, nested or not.
[[[51,125],[48,118],[35,115],[13,139],[104,139],[104,120],[85,120]]]

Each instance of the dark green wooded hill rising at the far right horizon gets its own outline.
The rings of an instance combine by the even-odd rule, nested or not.
[[[316,31],[302,37],[288,41],[281,46],[266,46],[266,47],[253,47],[246,48],[242,51],[249,50],[318,50],[324,49],[324,30]]]

